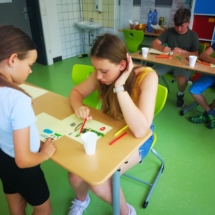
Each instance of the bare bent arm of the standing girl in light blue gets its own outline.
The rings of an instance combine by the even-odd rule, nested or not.
[[[48,160],[55,152],[56,147],[51,138],[49,138],[40,152],[30,151],[30,127],[13,131],[15,162],[20,168],[28,168],[39,165]]]

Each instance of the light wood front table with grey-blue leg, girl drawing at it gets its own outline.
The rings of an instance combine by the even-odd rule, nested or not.
[[[33,99],[35,114],[47,113],[59,120],[74,113],[69,99],[53,92],[46,92]],[[90,107],[89,107],[90,108]],[[142,138],[135,138],[127,129],[127,135],[113,145],[114,134],[125,126],[124,120],[113,120],[107,114],[90,108],[93,119],[113,127],[104,137],[98,139],[96,153],[86,155],[83,145],[63,136],[55,141],[56,152],[51,160],[78,175],[91,185],[101,185],[113,176],[113,214],[120,214],[120,166],[152,135],[149,129]]]

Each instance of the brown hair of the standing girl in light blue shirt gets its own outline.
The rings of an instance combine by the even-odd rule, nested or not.
[[[28,51],[35,50],[36,46],[32,39],[19,28],[12,25],[0,26],[0,62],[16,53],[20,60],[26,58]],[[0,86],[10,87],[23,93],[24,90],[16,84],[9,82],[0,74]],[[26,93],[25,93],[26,94]]]

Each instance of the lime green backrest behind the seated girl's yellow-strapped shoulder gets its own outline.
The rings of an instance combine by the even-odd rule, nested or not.
[[[168,94],[167,88],[158,84],[154,116],[156,116],[164,107],[166,103],[167,94]]]

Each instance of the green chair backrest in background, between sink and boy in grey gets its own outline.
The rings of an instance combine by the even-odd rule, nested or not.
[[[123,29],[126,47],[129,52],[137,52],[139,45],[144,39],[144,32],[138,30]]]

